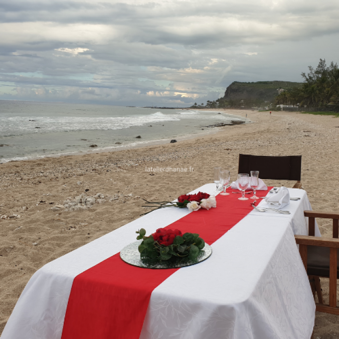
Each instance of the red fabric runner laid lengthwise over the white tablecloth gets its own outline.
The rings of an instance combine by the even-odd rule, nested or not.
[[[198,233],[211,245],[253,209],[253,200],[240,201],[239,196],[219,194],[216,208],[200,208],[166,228]],[[139,339],[152,291],[177,270],[135,267],[117,253],[79,274],[68,299],[61,339]]]

